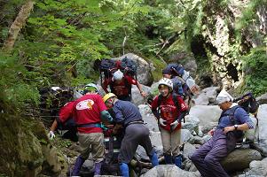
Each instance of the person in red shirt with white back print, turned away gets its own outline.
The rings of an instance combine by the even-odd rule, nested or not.
[[[102,97],[98,95],[98,88],[86,87],[81,98],[75,101],[73,115],[78,130],[78,139],[81,146],[81,155],[76,159],[72,171],[73,176],[80,173],[84,161],[91,152],[95,161],[95,175],[100,175],[100,169],[105,154],[104,135],[101,128],[101,119],[112,121],[113,118],[106,111]]]

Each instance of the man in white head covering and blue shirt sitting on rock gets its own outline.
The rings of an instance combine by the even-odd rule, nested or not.
[[[224,89],[216,97],[216,103],[223,110],[218,126],[210,130],[212,137],[190,158],[203,177],[229,176],[220,161],[234,150],[237,136],[242,134],[242,131],[254,128],[247,112],[238,104],[232,103],[232,100],[232,96]]]

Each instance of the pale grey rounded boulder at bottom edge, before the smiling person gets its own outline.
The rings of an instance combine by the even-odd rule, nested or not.
[[[199,172],[187,172],[176,165],[157,165],[142,177],[200,177]]]

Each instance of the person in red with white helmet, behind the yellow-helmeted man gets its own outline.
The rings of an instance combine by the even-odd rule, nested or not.
[[[114,73],[112,78],[108,78],[102,84],[102,88],[108,93],[107,86],[109,85],[111,93],[114,93],[120,100],[131,101],[131,85],[137,85],[141,96],[146,96],[142,91],[141,84],[133,79],[130,75],[124,75],[121,70]]]

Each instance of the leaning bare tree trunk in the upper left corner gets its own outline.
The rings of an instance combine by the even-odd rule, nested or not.
[[[3,46],[4,50],[12,50],[14,43],[20,33],[20,29],[26,23],[26,19],[28,18],[30,12],[33,10],[34,4],[34,1],[27,1],[26,4],[22,5],[20,13],[12,23],[12,27],[10,27],[9,29],[7,39],[5,40]]]

